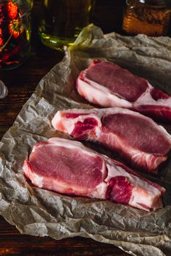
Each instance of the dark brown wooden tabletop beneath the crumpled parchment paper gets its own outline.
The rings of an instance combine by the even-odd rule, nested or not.
[[[34,24],[39,13],[39,1],[34,1]],[[0,138],[12,126],[20,109],[34,92],[39,80],[63,58],[62,53],[45,48],[38,40],[34,27],[31,56],[23,66],[9,71],[0,70],[9,94],[0,100]],[[66,238],[61,241],[21,235],[18,230],[0,217],[0,255],[121,255],[125,252],[109,244],[88,238]]]

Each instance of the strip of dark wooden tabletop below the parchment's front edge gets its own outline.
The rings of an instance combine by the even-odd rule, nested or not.
[[[21,235],[2,217],[0,217],[0,228],[0,255],[127,255],[115,246],[102,244],[90,238],[75,237],[56,241],[49,237]]]

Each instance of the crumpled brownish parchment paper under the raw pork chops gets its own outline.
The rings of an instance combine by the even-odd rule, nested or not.
[[[153,212],[107,200],[59,195],[33,187],[23,176],[23,161],[34,143],[54,136],[69,138],[56,132],[51,125],[57,110],[92,108],[77,94],[74,83],[80,70],[94,58],[114,61],[171,94],[171,38],[104,35],[93,25],[83,29],[75,44],[66,49],[63,61],[42,78],[1,140],[0,214],[20,233],[32,236],[55,239],[83,236],[113,244],[132,255],[169,255],[170,159],[161,170],[161,177],[145,175],[167,189],[164,208]],[[170,131],[169,126],[167,129]],[[95,148],[100,151],[100,148]]]

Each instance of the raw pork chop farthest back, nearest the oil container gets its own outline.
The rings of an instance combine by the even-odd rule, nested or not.
[[[104,108],[130,108],[157,121],[171,122],[169,95],[109,61],[92,61],[80,72],[76,87],[88,102]]]

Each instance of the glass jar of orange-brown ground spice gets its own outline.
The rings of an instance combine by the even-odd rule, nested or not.
[[[163,0],[128,0],[123,31],[129,35],[165,36],[170,24],[170,8]]]

